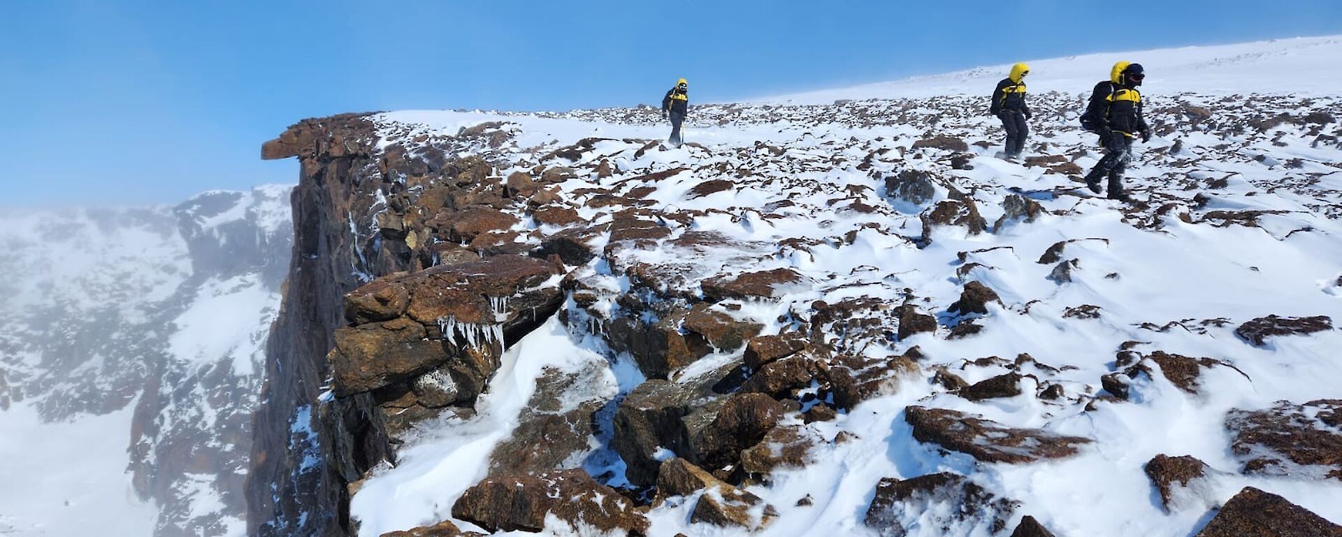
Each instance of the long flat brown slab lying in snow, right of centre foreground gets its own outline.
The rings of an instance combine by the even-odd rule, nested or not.
[[[919,442],[966,452],[982,462],[1028,463],[1076,454],[1090,439],[1043,430],[1011,428],[943,408],[909,407],[905,420]]]

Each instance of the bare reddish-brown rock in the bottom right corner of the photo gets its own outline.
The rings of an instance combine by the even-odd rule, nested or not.
[[[1329,522],[1272,493],[1244,487],[1196,537],[1339,537]]]

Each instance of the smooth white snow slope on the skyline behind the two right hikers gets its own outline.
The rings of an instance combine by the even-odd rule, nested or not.
[[[1108,79],[1115,62],[1146,68],[1143,94],[1197,91],[1213,95],[1247,93],[1342,94],[1342,36],[1275,39],[1212,47],[1102,52],[1082,56],[1029,59],[1029,91],[1090,93]],[[827,105],[836,99],[898,99],[937,95],[988,95],[1007,78],[1011,63],[942,75],[747,99],[789,105]]]

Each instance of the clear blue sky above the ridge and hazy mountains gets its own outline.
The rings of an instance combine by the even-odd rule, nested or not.
[[[1121,9],[1114,9],[1121,5]],[[729,101],[1114,50],[1342,34],[1298,1],[11,1],[0,207],[297,181],[305,117]]]

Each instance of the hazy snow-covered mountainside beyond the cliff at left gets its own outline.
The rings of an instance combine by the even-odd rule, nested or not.
[[[0,217],[0,534],[243,534],[289,191]]]

